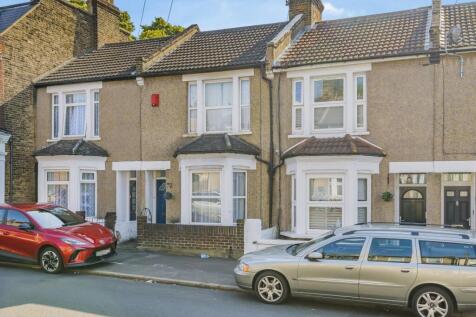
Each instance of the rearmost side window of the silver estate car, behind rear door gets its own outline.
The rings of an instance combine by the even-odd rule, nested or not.
[[[476,246],[463,243],[420,241],[423,264],[476,266]]]

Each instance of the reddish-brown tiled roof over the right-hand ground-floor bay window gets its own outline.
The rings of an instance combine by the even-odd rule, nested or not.
[[[362,138],[346,135],[343,138],[318,139],[311,137],[298,143],[282,155],[283,159],[296,156],[364,155],[385,156],[383,150]]]

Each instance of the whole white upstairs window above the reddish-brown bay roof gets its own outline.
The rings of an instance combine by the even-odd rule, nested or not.
[[[290,137],[366,135],[367,72],[371,64],[295,70]]]

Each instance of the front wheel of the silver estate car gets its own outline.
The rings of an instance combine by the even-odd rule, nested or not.
[[[289,297],[289,286],[286,279],[278,273],[264,272],[255,282],[258,298],[266,304],[281,304]]]

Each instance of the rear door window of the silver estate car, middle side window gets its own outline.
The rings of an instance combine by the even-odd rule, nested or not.
[[[370,246],[368,261],[410,263],[412,240],[375,238]]]

